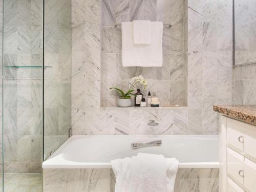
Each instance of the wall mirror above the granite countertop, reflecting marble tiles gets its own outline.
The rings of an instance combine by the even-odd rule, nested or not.
[[[233,0],[234,66],[256,63],[256,1]]]

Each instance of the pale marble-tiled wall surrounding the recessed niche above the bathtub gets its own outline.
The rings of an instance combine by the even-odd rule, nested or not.
[[[156,5],[156,0],[143,2]],[[171,7],[177,1],[172,2]],[[72,1],[73,133],[155,134],[146,126],[150,120],[146,114],[150,114],[151,118],[163,123],[162,130],[170,130],[157,134],[218,134],[217,113],[212,111],[212,104],[234,102],[230,36],[232,0],[188,1],[188,72],[184,78],[187,78],[188,106],[177,108],[175,112],[168,109],[150,109],[146,113],[136,109],[101,109],[101,76],[108,75],[104,74],[100,62],[103,40],[103,37],[100,38],[103,22],[100,20],[101,6],[99,0]],[[130,122],[129,126],[126,126],[124,119]],[[174,121],[180,125],[175,127]]]

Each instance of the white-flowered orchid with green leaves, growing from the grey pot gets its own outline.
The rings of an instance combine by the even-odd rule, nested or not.
[[[140,83],[143,86],[143,88],[146,89],[147,81],[144,79],[142,75],[133,77],[131,82],[132,83],[130,83],[130,89],[126,93],[124,93],[124,91],[122,91],[119,88],[110,88],[110,90],[112,89],[116,90],[117,93],[120,95],[121,99],[131,99],[131,95],[136,97],[136,95],[134,94],[135,90],[133,90],[136,84]]]

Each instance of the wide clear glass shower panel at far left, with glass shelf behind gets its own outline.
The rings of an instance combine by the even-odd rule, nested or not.
[[[4,191],[42,191],[43,0],[3,0]]]

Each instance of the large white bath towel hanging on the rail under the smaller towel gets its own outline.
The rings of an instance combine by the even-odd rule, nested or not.
[[[162,67],[163,23],[151,22],[151,44],[134,44],[133,23],[122,23],[123,67]]]

